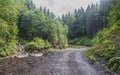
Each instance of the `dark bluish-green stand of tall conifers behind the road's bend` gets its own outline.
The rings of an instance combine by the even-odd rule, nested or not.
[[[101,0],[100,5],[88,5],[86,11],[81,7],[80,9],[75,9],[74,14],[68,13],[63,15],[62,21],[69,27],[69,40],[80,38],[86,38],[86,40],[92,39],[99,30],[107,27],[107,16],[110,12],[110,4],[107,2],[109,1]],[[75,41],[73,42],[73,44],[77,43]]]

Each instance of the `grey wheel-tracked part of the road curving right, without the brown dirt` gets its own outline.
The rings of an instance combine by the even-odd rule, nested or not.
[[[83,52],[88,47],[62,52],[62,56],[52,62],[53,75],[105,75],[90,64]]]

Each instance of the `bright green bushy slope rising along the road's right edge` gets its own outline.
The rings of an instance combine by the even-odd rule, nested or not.
[[[108,0],[107,21],[102,22],[106,28],[99,31],[93,39],[93,47],[86,55],[93,61],[99,61],[107,70],[120,74],[120,0]]]

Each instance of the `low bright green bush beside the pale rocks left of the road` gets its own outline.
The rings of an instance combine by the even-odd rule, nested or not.
[[[51,44],[48,41],[44,41],[40,38],[34,38],[33,41],[28,42],[25,46],[26,51],[41,50],[44,48],[49,48]]]

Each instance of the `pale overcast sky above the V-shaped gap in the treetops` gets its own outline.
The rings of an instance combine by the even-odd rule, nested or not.
[[[56,16],[61,16],[81,6],[86,9],[88,4],[98,3],[99,0],[33,0],[33,2],[37,7],[49,8]]]

